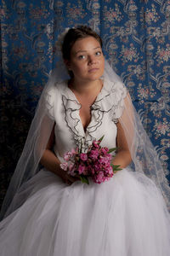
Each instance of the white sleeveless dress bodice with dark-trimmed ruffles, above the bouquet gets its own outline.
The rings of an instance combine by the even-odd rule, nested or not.
[[[123,111],[123,99],[127,90],[120,82],[104,81],[94,104],[91,106],[91,120],[86,131],[82,126],[81,108],[75,94],[69,89],[68,81],[55,84],[48,91],[48,113],[55,121],[54,152],[63,160],[66,151],[82,146],[86,151],[94,139],[105,136],[102,146],[116,147],[116,122]]]

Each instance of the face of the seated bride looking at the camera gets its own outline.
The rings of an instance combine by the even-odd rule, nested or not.
[[[99,41],[94,37],[78,39],[71,48],[71,59],[66,61],[66,65],[78,82],[98,80],[105,69],[105,58]]]

